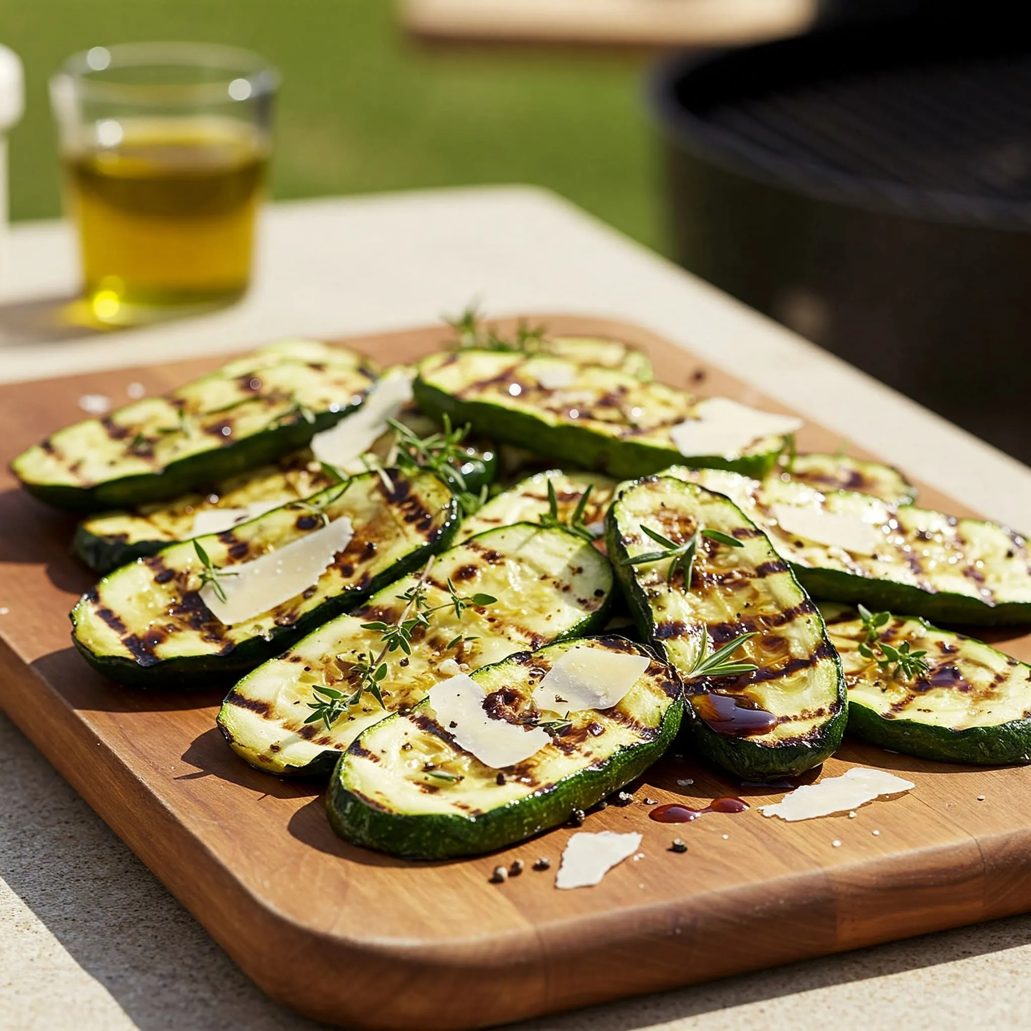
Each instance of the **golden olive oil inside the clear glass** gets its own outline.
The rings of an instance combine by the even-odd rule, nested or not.
[[[100,130],[108,145],[65,158],[96,318],[146,322],[242,295],[268,157],[258,131],[199,118],[127,119]]]

